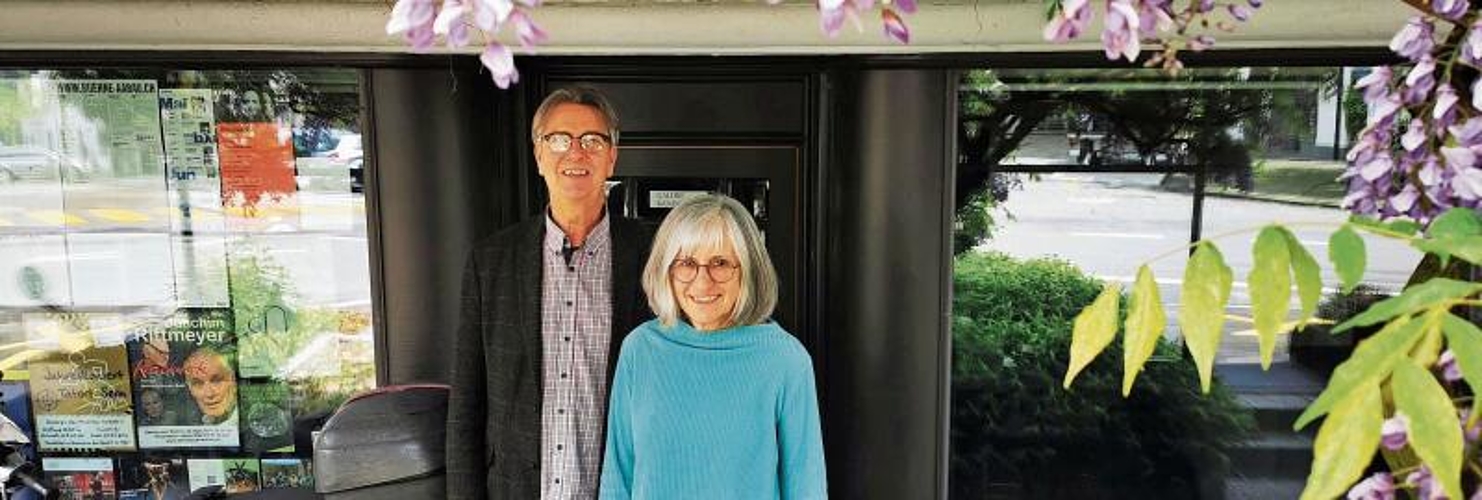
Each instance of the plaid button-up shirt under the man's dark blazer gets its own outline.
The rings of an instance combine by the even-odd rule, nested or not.
[[[545,217],[541,280],[541,499],[596,499],[608,420],[612,239],[608,217],[571,258],[566,233]]]

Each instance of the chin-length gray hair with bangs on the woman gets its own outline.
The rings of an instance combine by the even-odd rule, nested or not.
[[[729,243],[741,264],[741,295],[731,312],[732,325],[757,325],[772,316],[777,309],[777,269],[751,214],[734,199],[701,194],[685,199],[668,212],[643,266],[643,292],[664,326],[673,326],[682,313],[670,286],[670,264],[682,252],[717,243]]]

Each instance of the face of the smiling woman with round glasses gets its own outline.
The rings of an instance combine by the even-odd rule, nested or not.
[[[731,326],[731,315],[741,297],[740,266],[741,260],[729,242],[682,251],[670,263],[668,285],[695,329]]]

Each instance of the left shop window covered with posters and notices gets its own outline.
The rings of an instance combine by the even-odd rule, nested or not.
[[[359,77],[0,71],[0,409],[64,494],[313,484],[375,384]]]

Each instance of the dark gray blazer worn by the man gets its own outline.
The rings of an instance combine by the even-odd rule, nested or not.
[[[654,233],[612,217],[612,344],[652,313],[640,276]],[[474,245],[462,282],[448,404],[448,499],[541,496],[541,245],[544,214]]]

